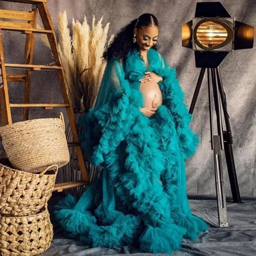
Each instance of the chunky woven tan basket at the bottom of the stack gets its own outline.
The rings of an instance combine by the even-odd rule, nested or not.
[[[35,215],[0,217],[0,255],[32,256],[51,245],[53,228],[45,206]]]

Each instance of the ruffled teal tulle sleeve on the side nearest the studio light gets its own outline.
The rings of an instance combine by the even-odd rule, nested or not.
[[[163,82],[159,83],[163,93],[163,104],[172,112],[176,122],[177,133],[180,137],[179,144],[184,157],[190,157],[196,152],[199,143],[199,136],[189,127],[192,115],[184,103],[184,92],[182,91],[177,78],[176,69],[170,67],[164,57],[160,54],[161,68],[157,70]]]

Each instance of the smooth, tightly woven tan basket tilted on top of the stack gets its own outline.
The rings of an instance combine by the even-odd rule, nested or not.
[[[60,118],[41,118],[0,127],[0,137],[13,168],[41,172],[69,162],[65,123]]]

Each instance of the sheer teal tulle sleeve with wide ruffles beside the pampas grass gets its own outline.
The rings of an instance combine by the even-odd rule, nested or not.
[[[124,77],[121,61],[108,63],[95,107],[79,120],[83,126],[80,135],[82,147],[93,164],[104,161],[104,155],[117,148],[129,132],[142,106],[140,92],[130,88]]]

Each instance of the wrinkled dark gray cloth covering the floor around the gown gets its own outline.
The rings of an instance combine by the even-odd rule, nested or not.
[[[50,212],[54,225],[54,239],[51,247],[42,256],[96,256],[96,255],[128,255],[148,256],[138,249],[128,246],[109,248],[90,248],[77,241],[64,237],[63,231],[54,221],[52,214],[52,198]],[[244,201],[241,204],[227,203],[228,228],[218,228],[217,203],[214,200],[189,200],[193,214],[203,217],[210,228],[202,233],[196,241],[184,239],[181,250],[174,256],[255,256],[256,255],[256,201]],[[166,255],[166,254],[158,254]]]

